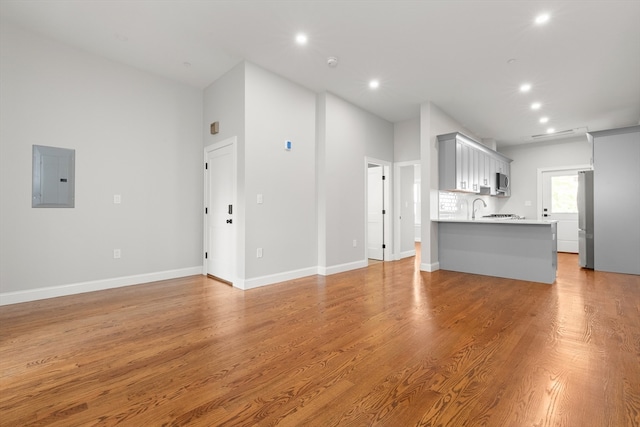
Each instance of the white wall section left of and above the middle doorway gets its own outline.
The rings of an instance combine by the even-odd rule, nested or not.
[[[330,93],[319,95],[319,230],[325,241],[321,273],[366,265],[365,157],[393,161],[393,124]],[[357,246],[353,247],[353,240]]]

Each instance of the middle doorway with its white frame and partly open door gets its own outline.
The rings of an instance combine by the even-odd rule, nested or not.
[[[367,159],[367,258],[389,261],[391,227],[389,225],[390,164]]]

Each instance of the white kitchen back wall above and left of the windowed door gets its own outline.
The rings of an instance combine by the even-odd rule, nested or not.
[[[511,162],[511,197],[497,199],[497,210],[536,219],[538,169],[591,164],[592,147],[586,136],[500,148]],[[531,206],[525,206],[530,201]]]

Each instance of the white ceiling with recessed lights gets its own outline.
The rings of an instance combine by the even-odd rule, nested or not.
[[[198,88],[246,59],[391,122],[432,101],[498,146],[640,123],[640,0],[1,0],[0,18]]]

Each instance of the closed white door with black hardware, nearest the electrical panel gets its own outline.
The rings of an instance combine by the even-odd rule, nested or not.
[[[207,274],[233,282],[234,236],[234,166],[232,145],[207,152]]]

